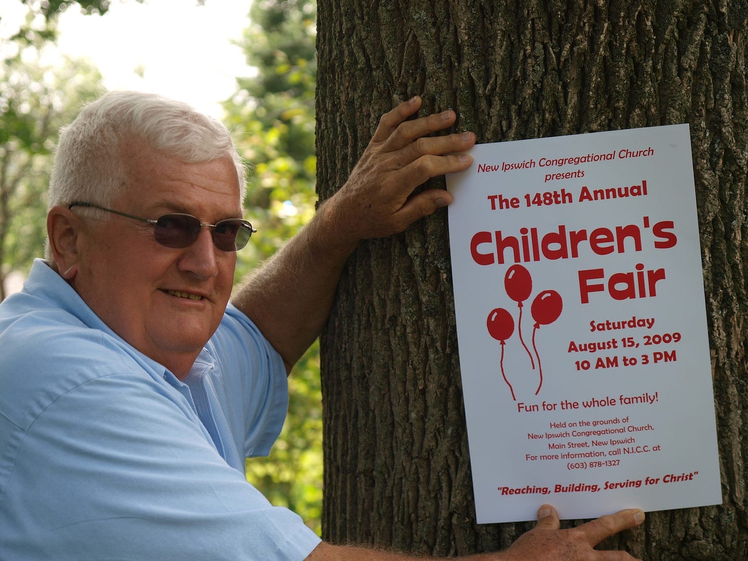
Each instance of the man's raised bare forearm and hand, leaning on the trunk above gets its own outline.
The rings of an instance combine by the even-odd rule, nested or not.
[[[429,137],[447,129],[454,111],[407,120],[420,97],[381,117],[345,185],[233,297],[290,370],[319,335],[349,255],[362,239],[390,236],[452,201],[449,192],[414,189],[432,177],[463,171],[472,132]]]

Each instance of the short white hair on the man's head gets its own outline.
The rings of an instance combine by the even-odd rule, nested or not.
[[[49,182],[49,208],[73,200],[107,206],[127,188],[123,144],[139,141],[186,163],[227,157],[236,166],[244,200],[245,166],[231,134],[218,120],[190,105],[137,91],[111,91],[86,105],[61,129]]]

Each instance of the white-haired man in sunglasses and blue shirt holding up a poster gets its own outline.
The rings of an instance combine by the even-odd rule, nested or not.
[[[346,185],[231,303],[254,227],[225,127],[143,93],[82,110],[55,158],[47,258],[0,306],[1,559],[393,557],[320,542],[248,484],[244,460],[277,438],[286,373],[359,240],[450,203],[411,194],[470,165],[455,154],[474,135],[428,137],[455,114],[408,120],[419,106],[382,117]],[[592,548],[643,513],[576,530],[549,506],[539,518],[485,559],[630,558]]]

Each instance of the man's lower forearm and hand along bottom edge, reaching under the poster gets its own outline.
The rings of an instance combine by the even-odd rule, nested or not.
[[[543,505],[538,511],[538,524],[522,534],[508,549],[494,554],[477,554],[458,559],[470,561],[632,561],[623,551],[598,551],[595,545],[623,530],[639,526],[644,513],[626,509],[606,515],[575,528],[560,530],[556,510]],[[407,557],[387,551],[330,545],[322,542],[307,561],[423,561],[423,557]]]

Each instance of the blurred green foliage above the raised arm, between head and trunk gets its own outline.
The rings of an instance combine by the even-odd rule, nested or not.
[[[306,224],[316,202],[316,3],[260,0],[250,16],[239,45],[257,76],[237,79],[224,109],[239,153],[253,166],[245,206],[260,232],[252,263]]]

